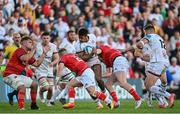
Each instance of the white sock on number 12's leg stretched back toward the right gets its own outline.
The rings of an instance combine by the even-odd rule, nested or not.
[[[166,98],[169,98],[170,95],[171,95],[170,93],[168,93],[167,91],[163,90],[161,87],[158,87],[158,86],[152,86],[152,87],[150,88],[150,91],[151,91],[152,93],[162,95],[162,96],[164,96],[164,97],[166,97]]]

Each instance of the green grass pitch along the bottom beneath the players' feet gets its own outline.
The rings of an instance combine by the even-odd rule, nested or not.
[[[96,104],[90,101],[77,101],[76,106],[73,109],[63,109],[62,105],[59,102],[56,102],[55,106],[47,107],[45,104],[38,102],[40,110],[30,110],[30,103],[25,104],[26,110],[19,111],[17,110],[17,104],[10,106],[8,103],[0,103],[0,113],[179,113],[180,114],[180,100],[176,100],[175,106],[173,108],[159,109],[157,108],[157,103],[153,103],[152,108],[148,108],[146,102],[143,102],[139,109],[134,109],[133,100],[121,100],[121,105],[117,109],[110,110],[107,106],[104,105],[104,108],[101,110],[96,109]]]

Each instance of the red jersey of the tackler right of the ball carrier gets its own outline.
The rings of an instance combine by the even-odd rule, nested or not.
[[[112,67],[114,59],[122,55],[120,51],[106,45],[101,45],[99,48],[102,50],[101,53],[102,62],[107,67]]]

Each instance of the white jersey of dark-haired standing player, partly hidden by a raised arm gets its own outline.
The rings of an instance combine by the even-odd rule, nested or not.
[[[53,54],[57,53],[57,47],[55,44],[49,43],[49,47],[50,47],[50,50],[47,52],[43,62],[41,63],[39,67],[37,67],[36,70],[43,70],[43,71],[49,70],[49,64],[53,60]],[[36,46],[35,58],[38,59],[42,55],[42,53],[43,53],[42,43],[38,43]]]

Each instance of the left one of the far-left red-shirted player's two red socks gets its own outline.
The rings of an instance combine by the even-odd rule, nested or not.
[[[25,92],[19,90],[19,92],[18,92],[18,107],[19,108],[24,107],[24,97],[25,97]]]

